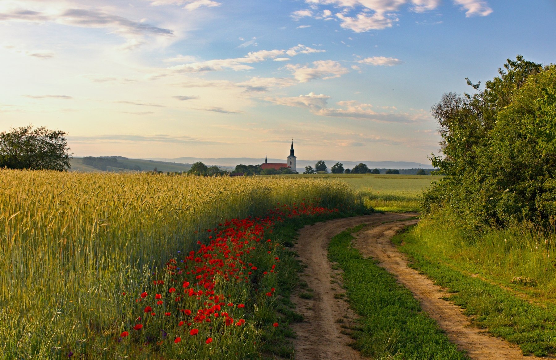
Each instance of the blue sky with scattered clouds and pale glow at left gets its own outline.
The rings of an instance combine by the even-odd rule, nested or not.
[[[556,58],[556,1],[1,0],[0,132],[73,156],[429,163],[430,107]]]

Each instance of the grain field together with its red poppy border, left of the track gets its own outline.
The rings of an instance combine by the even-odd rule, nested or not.
[[[0,188],[6,359],[257,358],[261,339],[278,324],[269,310],[274,289],[287,291],[295,280],[287,273],[295,261],[272,234],[274,223],[360,204],[345,183],[321,179],[3,170]],[[229,258],[261,270],[241,270],[241,286],[232,286],[230,272],[216,264]],[[276,258],[284,271],[271,272]],[[214,327],[206,319],[195,327],[200,316]],[[228,317],[240,324],[225,327]]]

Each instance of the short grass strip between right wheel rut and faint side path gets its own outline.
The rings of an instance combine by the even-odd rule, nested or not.
[[[524,354],[543,356],[556,352],[556,306],[553,303],[532,304],[516,297],[514,291],[470,277],[454,266],[458,260],[446,256],[438,241],[431,240],[426,232],[423,234],[423,228],[399,234],[393,241],[403,243],[399,249],[410,256],[413,268],[448,289],[447,299],[473,316],[476,326],[518,344]],[[460,241],[459,248],[465,248],[463,239]],[[450,248],[450,244],[446,244],[446,248]]]

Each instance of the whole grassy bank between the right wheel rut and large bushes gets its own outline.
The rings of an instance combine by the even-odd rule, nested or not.
[[[524,354],[556,352],[556,261],[550,234],[524,227],[470,236],[434,219],[394,237],[413,267],[465,308],[476,326],[518,344]],[[472,277],[478,274],[479,277]],[[512,283],[534,279],[536,286]],[[533,282],[534,283],[534,282]]]

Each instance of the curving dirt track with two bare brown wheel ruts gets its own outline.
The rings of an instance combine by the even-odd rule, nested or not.
[[[372,256],[380,261],[380,266],[398,278],[421,303],[423,311],[438,322],[446,331],[450,341],[459,349],[466,350],[471,359],[532,359],[524,357],[518,347],[502,339],[494,338],[471,326],[468,317],[461,309],[441,299],[445,292],[435,286],[425,276],[407,266],[404,254],[400,253],[390,242],[390,238],[401,228],[416,223],[415,219],[402,221],[415,214],[373,214],[354,218],[334,219],[325,223],[306,226],[301,229],[296,251],[307,265],[301,280],[309,283],[313,289],[312,299],[303,299],[294,294],[292,300],[297,304],[297,311],[303,314],[305,321],[295,324],[297,333],[295,358],[297,360],[317,359],[362,359],[360,354],[349,347],[351,339],[342,334],[342,324],[355,319],[346,303],[335,297],[341,293],[335,283],[338,271],[331,268],[326,254],[330,238],[346,228],[365,223],[368,226],[358,234],[354,246],[364,256]]]

